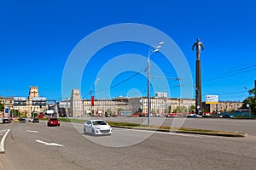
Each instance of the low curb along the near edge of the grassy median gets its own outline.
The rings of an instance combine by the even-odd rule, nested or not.
[[[200,131],[184,131],[184,130],[166,130],[159,128],[148,128],[148,127],[125,127],[125,126],[111,126],[111,127],[119,127],[119,128],[128,128],[128,129],[136,129],[136,130],[148,130],[148,131],[158,131],[158,132],[168,132],[168,133],[190,133],[190,134],[200,134],[200,135],[211,135],[211,136],[224,136],[224,137],[238,137],[244,138],[246,133],[230,133],[230,132],[200,132]]]

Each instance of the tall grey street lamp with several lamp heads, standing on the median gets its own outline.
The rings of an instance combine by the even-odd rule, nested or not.
[[[158,44],[148,48],[148,127],[150,126],[150,110],[151,110],[151,103],[150,103],[150,55],[158,52],[163,45],[164,42],[159,42]]]

